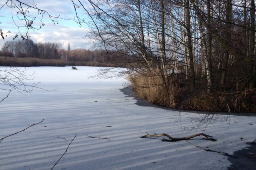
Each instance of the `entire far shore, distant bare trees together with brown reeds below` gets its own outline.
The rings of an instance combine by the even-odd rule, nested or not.
[[[60,43],[34,43],[31,39],[6,41],[0,51],[1,66],[123,66],[114,65],[118,56],[102,49],[61,48]],[[122,62],[123,63],[123,62]]]

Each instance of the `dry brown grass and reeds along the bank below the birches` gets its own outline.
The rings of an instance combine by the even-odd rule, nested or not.
[[[129,81],[138,97],[157,105],[196,111],[256,112],[256,90],[207,93],[206,89],[191,91],[184,84],[176,84],[177,81],[171,81],[167,90],[163,80],[153,73],[130,75]]]

